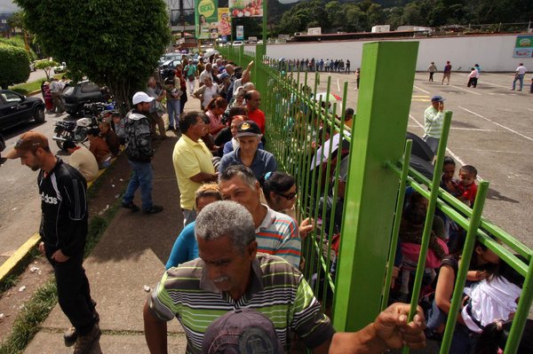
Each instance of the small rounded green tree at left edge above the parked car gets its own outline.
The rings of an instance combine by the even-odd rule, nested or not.
[[[0,87],[25,83],[29,77],[29,59],[24,49],[0,43]]]

